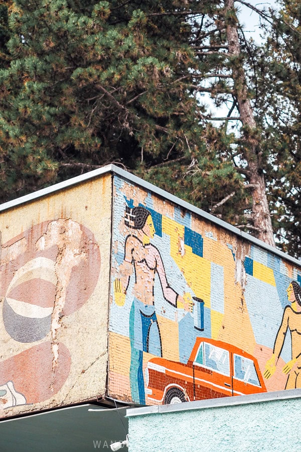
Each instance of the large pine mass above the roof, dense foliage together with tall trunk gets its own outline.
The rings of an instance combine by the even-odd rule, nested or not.
[[[10,2],[0,23],[2,200],[114,162],[273,244],[258,49],[234,7]],[[213,121],[204,94],[230,105],[224,118]]]

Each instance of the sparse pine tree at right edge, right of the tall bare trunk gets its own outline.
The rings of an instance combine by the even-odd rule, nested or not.
[[[269,153],[269,198],[279,246],[300,256],[301,239],[301,16],[298,2],[283,1],[258,62],[259,115]]]

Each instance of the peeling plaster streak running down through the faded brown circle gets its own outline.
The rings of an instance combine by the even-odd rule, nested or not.
[[[82,230],[79,223],[71,219],[51,221],[45,234],[36,243],[36,249],[43,251],[57,246],[55,262],[57,277],[54,308],[51,316],[51,350],[53,354],[52,369],[56,367],[59,356],[58,330],[63,316],[67,287],[73,267],[86,260],[86,252],[81,248]]]

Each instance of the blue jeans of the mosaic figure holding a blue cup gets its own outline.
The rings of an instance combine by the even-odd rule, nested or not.
[[[161,335],[155,306],[134,298],[129,314],[130,370],[132,401],[145,405],[143,352],[162,357]]]

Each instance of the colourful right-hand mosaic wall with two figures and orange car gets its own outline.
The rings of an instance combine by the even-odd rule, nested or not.
[[[178,403],[301,387],[301,270],[113,179],[113,397]]]

